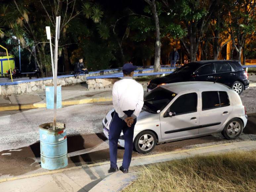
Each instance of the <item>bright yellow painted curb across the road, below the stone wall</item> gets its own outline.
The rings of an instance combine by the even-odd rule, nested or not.
[[[97,103],[97,102],[105,102],[105,101],[112,101],[112,97],[100,97],[100,98],[91,98],[91,99],[80,99],[80,100],[74,100],[74,101],[62,101],[62,105],[63,106],[79,105],[79,104]],[[18,110],[36,109],[36,108],[46,108],[46,103],[34,103],[34,104],[0,107],[0,111],[18,111]]]

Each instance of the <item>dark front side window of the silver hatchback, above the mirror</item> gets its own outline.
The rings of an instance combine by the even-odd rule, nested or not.
[[[171,105],[170,112],[176,115],[192,113],[197,111],[197,93],[188,93],[179,96]]]

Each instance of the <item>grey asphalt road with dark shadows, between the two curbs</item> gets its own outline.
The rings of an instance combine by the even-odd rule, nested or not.
[[[256,139],[256,89],[241,96],[249,109],[248,124],[236,141]],[[112,102],[69,106],[57,111],[57,121],[65,122],[68,135],[69,167],[109,159],[108,141],[102,134],[102,119]],[[0,112],[0,178],[43,171],[40,168],[38,125],[52,122],[53,110]],[[170,142],[156,146],[150,154],[181,150],[195,146],[231,142],[221,134]],[[120,148],[118,157],[122,158]],[[133,152],[133,156],[141,156]],[[147,155],[147,154],[146,154]]]

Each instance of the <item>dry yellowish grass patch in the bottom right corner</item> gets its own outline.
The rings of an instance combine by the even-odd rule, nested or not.
[[[140,167],[138,179],[123,191],[256,191],[256,151]]]

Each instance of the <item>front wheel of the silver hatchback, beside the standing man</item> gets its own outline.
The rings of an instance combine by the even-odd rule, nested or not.
[[[155,133],[150,130],[141,131],[134,139],[133,145],[138,153],[149,153],[157,143]]]

